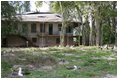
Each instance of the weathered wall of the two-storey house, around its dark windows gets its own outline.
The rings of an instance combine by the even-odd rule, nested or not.
[[[31,33],[31,24],[32,22],[28,22],[28,35],[25,36],[28,40],[32,42],[32,38],[37,38],[37,42],[33,43],[34,46],[55,46],[59,45],[60,43],[56,43],[56,39],[60,38],[59,31],[58,31],[58,24],[60,23],[45,23],[45,34],[42,36],[40,34],[40,24],[36,23],[36,33]],[[18,24],[18,29],[22,33],[22,24]],[[53,35],[49,35],[49,24],[53,24]],[[23,33],[22,33],[23,34]],[[12,40],[15,39],[15,42]],[[42,40],[43,39],[43,40]],[[8,46],[24,46],[26,45],[26,40],[21,40],[19,37],[11,36],[8,38]],[[73,37],[65,36],[65,45],[72,45],[73,44]]]

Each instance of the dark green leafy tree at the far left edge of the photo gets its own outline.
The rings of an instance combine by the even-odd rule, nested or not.
[[[11,27],[14,24],[14,21],[17,20],[15,17],[16,12],[15,8],[9,4],[8,1],[1,2],[1,37],[2,39],[6,37],[7,34],[13,31],[14,27]],[[6,21],[3,21],[6,20]],[[9,21],[12,20],[13,22],[10,23]]]

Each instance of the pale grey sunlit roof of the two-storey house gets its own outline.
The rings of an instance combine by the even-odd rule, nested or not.
[[[55,13],[38,12],[18,15],[24,22],[61,22],[62,18]]]

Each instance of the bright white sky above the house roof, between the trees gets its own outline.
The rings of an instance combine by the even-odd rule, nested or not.
[[[30,1],[31,4],[31,11],[36,11],[36,6],[35,6],[35,2],[36,1]],[[39,10],[40,12],[48,12],[49,11],[49,2],[43,2],[42,7],[38,8],[37,10]]]

